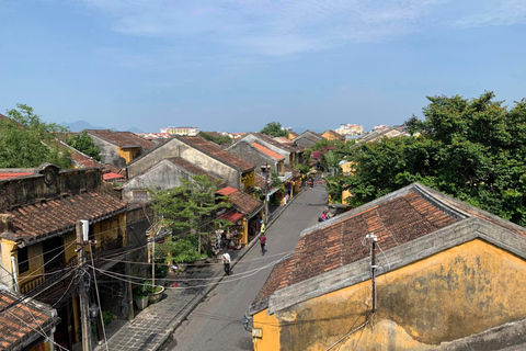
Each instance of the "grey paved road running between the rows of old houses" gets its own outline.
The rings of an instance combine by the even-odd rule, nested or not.
[[[327,204],[324,186],[317,184],[295,199],[267,230],[267,252],[256,245],[175,331],[168,347],[174,351],[252,350],[252,338],[241,318],[272,271],[274,262],[293,251],[302,229],[316,225]]]

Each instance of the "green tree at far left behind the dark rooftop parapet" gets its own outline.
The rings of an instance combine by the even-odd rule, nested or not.
[[[34,168],[44,162],[70,168],[70,154],[57,140],[67,132],[54,123],[45,123],[25,104],[7,111],[0,118],[0,168]]]

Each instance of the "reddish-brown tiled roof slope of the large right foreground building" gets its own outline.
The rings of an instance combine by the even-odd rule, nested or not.
[[[256,301],[275,291],[368,257],[362,245],[367,234],[386,251],[457,222],[415,191],[386,200],[352,216],[342,215],[300,237],[294,254],[275,267]]]

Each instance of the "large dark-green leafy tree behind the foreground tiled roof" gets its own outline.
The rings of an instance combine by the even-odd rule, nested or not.
[[[526,225],[526,100],[507,110],[492,92],[427,99],[425,121],[413,116],[405,123],[419,136],[353,148],[347,160],[355,162],[355,174],[328,184],[348,186],[358,206],[420,182]]]

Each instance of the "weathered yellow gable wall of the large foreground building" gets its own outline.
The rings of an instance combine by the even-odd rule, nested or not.
[[[342,350],[428,350],[526,318],[526,304],[517,303],[526,291],[526,262],[480,239],[380,275],[377,286],[377,313]],[[262,340],[258,350],[325,350],[366,320],[369,287],[366,281],[276,313],[281,349],[276,340]],[[276,338],[261,314],[254,326],[264,329],[263,339]]]

